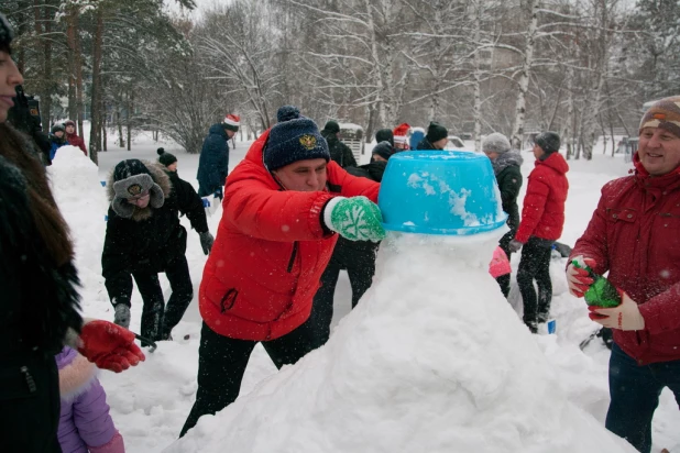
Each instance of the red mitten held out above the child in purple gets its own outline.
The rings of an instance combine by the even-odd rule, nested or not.
[[[86,322],[80,332],[78,352],[99,368],[120,373],[144,361],[134,344],[134,333],[109,321]]]

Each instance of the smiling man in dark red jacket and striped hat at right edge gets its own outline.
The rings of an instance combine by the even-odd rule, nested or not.
[[[570,263],[581,257],[622,292],[615,308],[591,307],[614,330],[606,428],[640,452],[663,387],[680,402],[680,96],[643,117],[635,174],[607,183]],[[570,264],[571,294],[592,283]]]

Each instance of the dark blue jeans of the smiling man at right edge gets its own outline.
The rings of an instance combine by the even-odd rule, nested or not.
[[[610,357],[610,409],[606,429],[643,453],[651,450],[651,419],[668,387],[680,405],[680,361],[638,365],[616,343]]]

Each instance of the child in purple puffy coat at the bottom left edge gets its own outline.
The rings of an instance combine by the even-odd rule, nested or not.
[[[56,355],[56,363],[62,397],[58,438],[64,453],[124,453],[95,364],[68,346]]]

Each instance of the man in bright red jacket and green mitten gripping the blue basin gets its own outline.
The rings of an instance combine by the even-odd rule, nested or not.
[[[380,241],[380,185],[330,161],[317,125],[285,106],[227,178],[223,214],[204,268],[196,402],[180,437],[239,396],[253,347],[277,367],[317,341],[306,322],[338,240]]]

